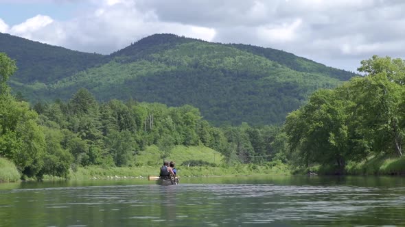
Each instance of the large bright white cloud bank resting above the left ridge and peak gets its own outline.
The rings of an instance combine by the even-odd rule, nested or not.
[[[130,42],[156,33],[207,41],[216,35],[215,29],[210,27],[159,21],[153,10],[138,10],[129,0],[104,0],[92,12],[69,21],[54,21],[49,16],[37,15],[8,31],[30,40],[97,53],[117,51]]]

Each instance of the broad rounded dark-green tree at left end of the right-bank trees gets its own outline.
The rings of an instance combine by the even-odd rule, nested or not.
[[[351,130],[355,103],[342,97],[336,90],[319,90],[307,105],[288,115],[285,130],[301,164],[334,165],[341,173],[347,161],[367,157],[368,150]]]

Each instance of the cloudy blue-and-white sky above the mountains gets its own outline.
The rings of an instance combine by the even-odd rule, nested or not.
[[[356,71],[373,55],[405,57],[404,12],[402,0],[0,0],[0,32],[103,54],[170,33]]]

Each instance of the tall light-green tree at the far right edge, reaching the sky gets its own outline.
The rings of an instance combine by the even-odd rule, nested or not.
[[[405,137],[405,63],[402,59],[373,56],[358,68],[364,78],[354,79],[356,112],[362,116],[363,133],[375,151],[395,150],[402,156]]]

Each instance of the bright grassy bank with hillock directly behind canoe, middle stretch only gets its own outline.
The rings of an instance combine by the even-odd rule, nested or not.
[[[175,146],[167,160],[176,162],[178,175],[188,176],[229,176],[229,175],[288,175],[288,165],[280,162],[257,164],[231,164],[215,150],[204,146]],[[72,180],[106,179],[106,178],[142,178],[158,176],[162,165],[161,152],[156,146],[150,146],[137,155],[135,164],[130,167],[86,166],[70,172]]]

